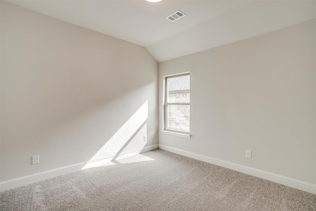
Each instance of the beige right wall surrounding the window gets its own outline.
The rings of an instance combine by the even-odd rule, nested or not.
[[[314,19],[159,63],[159,129],[163,76],[190,71],[192,135],[159,144],[316,184],[315,38]]]

